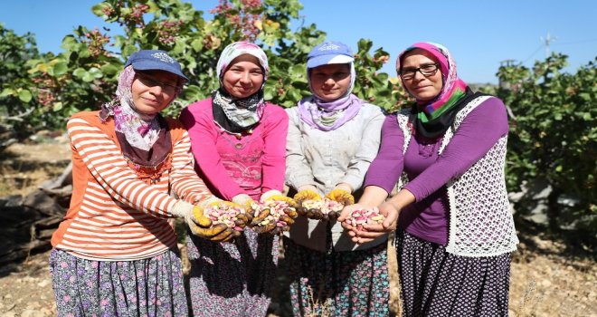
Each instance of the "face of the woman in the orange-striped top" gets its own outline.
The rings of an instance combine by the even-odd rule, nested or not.
[[[137,72],[131,86],[135,108],[144,114],[164,110],[174,100],[178,85],[179,78],[172,72]]]

